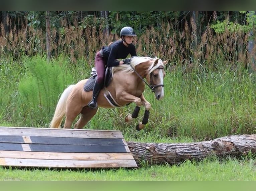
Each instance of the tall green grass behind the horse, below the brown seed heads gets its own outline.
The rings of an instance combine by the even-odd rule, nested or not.
[[[91,66],[79,60],[76,65],[65,57],[47,63],[45,58],[24,57],[21,61],[2,60],[0,73],[0,125],[47,127],[58,96],[70,84],[90,77]],[[200,68],[201,67],[201,68]],[[120,130],[127,140],[165,139],[210,140],[226,135],[253,134],[256,131],[254,75],[243,67],[217,70],[200,66],[187,74],[182,68],[166,68],[165,96],[156,100],[146,88],[151,103],[149,122],[137,132],[142,107],[136,120],[124,122],[134,103],[104,109],[85,126],[87,129]]]

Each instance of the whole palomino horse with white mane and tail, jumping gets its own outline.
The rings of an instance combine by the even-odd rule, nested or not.
[[[167,62],[168,60],[162,62],[158,58],[132,57],[129,65],[112,67],[112,80],[107,88],[101,90],[97,98],[98,106],[113,108],[135,102],[136,107],[133,113],[125,117],[125,121],[128,122],[138,116],[140,106],[144,105],[145,113],[143,120],[136,126],[137,130],[143,129],[148,122],[149,110],[151,108],[151,104],[143,95],[145,84],[154,92],[156,99],[160,100],[163,98],[164,66]],[[64,128],[71,128],[73,121],[79,114],[81,114],[80,119],[74,125],[74,128],[83,128],[96,114],[98,107],[91,109],[87,106],[88,102],[92,99],[92,91],[85,92],[83,89],[87,80],[81,80],[75,85],[70,85],[63,91],[50,123],[51,128],[59,128],[65,115]]]

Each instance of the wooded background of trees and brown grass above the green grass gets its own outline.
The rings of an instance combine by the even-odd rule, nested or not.
[[[173,64],[178,62],[175,59],[185,64],[198,59],[203,62],[207,60],[207,39],[211,36],[221,38],[218,35],[226,33],[222,37],[223,44],[220,44],[221,41],[217,43],[216,51],[225,46],[237,54],[249,51],[251,58],[242,62],[248,67],[248,63],[253,61],[251,63],[255,68],[252,53],[255,11],[0,11],[0,21],[0,54],[11,54],[16,58],[22,54],[42,52],[48,59],[64,53],[70,55],[74,62],[79,56],[93,60],[93,51],[118,39],[122,27],[131,26],[138,39],[142,38],[134,42],[135,45],[138,43],[140,56],[165,53],[163,57],[173,61]],[[68,38],[65,27],[78,33],[76,40],[70,39],[70,50],[61,42],[61,39]],[[162,36],[159,37],[159,33]],[[12,42],[14,38],[23,38],[18,45],[20,50],[14,50],[17,45]],[[103,40],[94,39],[97,43],[92,46],[87,44],[90,38]],[[143,41],[145,38],[149,42]],[[74,46],[79,45],[79,41],[84,44],[85,50],[80,47],[80,51],[76,52]],[[12,48],[10,44],[13,44]],[[237,61],[239,56],[234,52],[227,54],[227,60]]]

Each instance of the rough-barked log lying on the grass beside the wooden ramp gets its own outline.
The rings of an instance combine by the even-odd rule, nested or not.
[[[201,160],[207,156],[241,156],[249,151],[256,153],[256,134],[233,135],[194,143],[141,143],[127,142],[140,166],[147,164],[178,164],[186,159]]]

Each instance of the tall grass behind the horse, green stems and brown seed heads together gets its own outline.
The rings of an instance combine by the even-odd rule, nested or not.
[[[0,35],[1,125],[48,126],[61,92],[90,77],[95,52],[118,39],[117,34],[104,36],[103,23],[89,23],[86,28],[74,23],[71,27],[63,21],[61,29],[52,28],[50,63],[45,59],[42,31],[24,25]],[[182,32],[172,31],[170,23],[162,24],[161,31],[149,27],[135,39],[138,55],[170,60],[164,99],[158,101],[145,90],[152,105],[145,129],[135,130],[137,120],[123,121],[134,103],[100,108],[85,128],[121,130],[127,140],[154,142],[255,133],[256,87],[254,75],[247,71],[247,35],[236,31],[214,34],[208,26],[201,42],[195,44],[193,20],[190,26],[186,22]],[[143,113],[144,108],[138,120]]]

